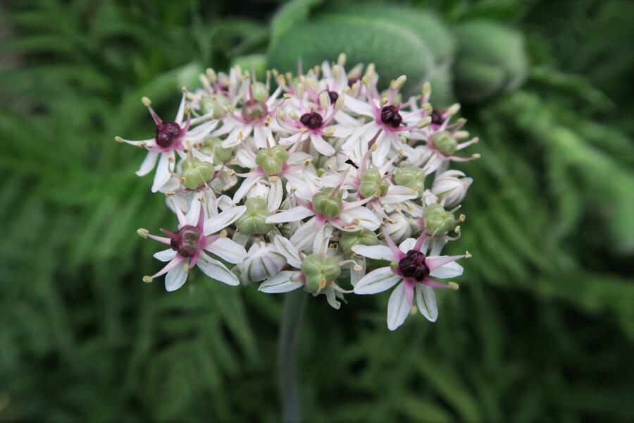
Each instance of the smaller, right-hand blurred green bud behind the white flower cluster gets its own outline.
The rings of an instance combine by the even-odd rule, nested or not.
[[[456,28],[459,51],[454,73],[456,94],[481,102],[515,90],[528,73],[521,33],[499,23],[473,20]]]

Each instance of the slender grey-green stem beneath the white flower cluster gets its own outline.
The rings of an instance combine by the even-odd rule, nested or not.
[[[299,423],[302,415],[299,401],[297,345],[302,329],[307,294],[302,289],[286,294],[284,317],[278,341],[278,374],[282,398],[282,422]]]

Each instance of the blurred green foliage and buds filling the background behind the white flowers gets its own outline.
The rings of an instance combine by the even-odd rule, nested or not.
[[[441,317],[310,301],[306,421],[634,419],[634,3],[7,0],[0,5],[0,419],[276,421],[280,296],[200,276],[168,295],[139,226],[172,223],[139,99],[206,66],[344,50],[459,99],[483,158]]]

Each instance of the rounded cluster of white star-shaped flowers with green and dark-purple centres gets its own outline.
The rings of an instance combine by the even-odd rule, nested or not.
[[[387,325],[394,330],[416,305],[437,319],[434,289],[457,289],[457,259],[440,255],[459,238],[456,216],[471,178],[449,170],[478,142],[467,140],[459,105],[434,109],[430,85],[404,101],[406,78],[378,90],[373,65],[337,63],[298,75],[268,71],[266,81],[208,69],[201,88],[183,88],[178,113],[164,121],[144,97],[154,136],[137,175],[154,171],[152,192],[166,195],[178,218],[154,257],[167,264],[168,291],[197,266],[229,285],[259,283],[263,293],[304,289],[339,309],[344,294],[392,287]],[[274,89],[271,85],[274,82]],[[158,161],[158,164],[157,164]]]

